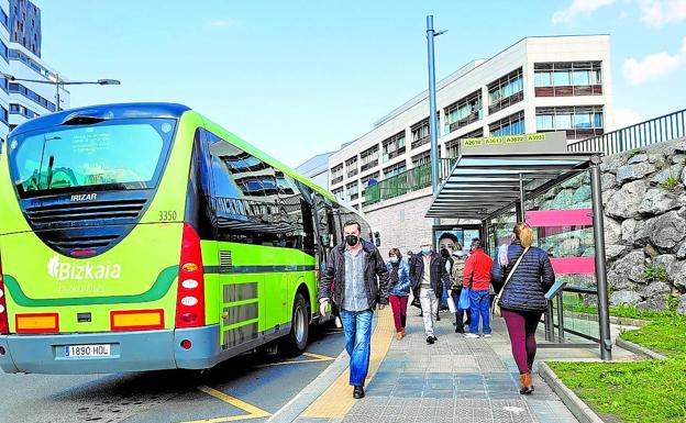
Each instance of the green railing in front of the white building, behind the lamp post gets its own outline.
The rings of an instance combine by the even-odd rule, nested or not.
[[[445,178],[457,158],[442,158],[440,164],[441,180]],[[365,189],[364,205],[389,200],[408,192],[431,187],[431,164],[427,163],[390,178],[381,179]]]

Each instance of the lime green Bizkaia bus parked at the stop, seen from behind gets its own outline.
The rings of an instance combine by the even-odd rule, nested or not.
[[[204,369],[267,343],[302,353],[342,223],[372,236],[330,192],[180,104],[41,116],[0,159],[5,372]]]

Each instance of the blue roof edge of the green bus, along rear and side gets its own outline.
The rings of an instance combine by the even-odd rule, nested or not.
[[[142,118],[142,119],[153,119],[153,118],[176,118],[179,119],[185,112],[190,111],[191,109],[184,104],[177,103],[157,103],[157,102],[133,102],[133,103],[114,103],[114,104],[97,104],[97,105],[88,105],[84,108],[77,109],[68,109],[65,111],[46,114],[40,118],[32,119],[16,126],[10,135],[14,136],[18,134],[43,130],[48,127],[55,127],[68,122],[75,118],[91,118],[91,119],[132,119],[132,118]],[[196,112],[197,113],[197,112]],[[263,162],[268,163],[269,165],[278,168],[284,171],[286,175],[299,180],[300,182],[307,185],[312,188],[314,191],[328,198],[330,201],[339,204],[336,198],[329,192],[327,189],[320,187],[319,185],[312,182],[310,179],[303,177],[298,174],[295,169],[289,166],[284,165],[266,153],[262,152],[259,148],[253,146],[252,144],[241,140],[233,133],[224,130],[222,126],[207,119],[206,116],[198,113],[204,122],[213,126],[214,130],[218,130],[224,134],[231,135],[232,142],[237,142],[241,145],[239,147],[253,154],[255,157],[259,158]],[[219,134],[218,134],[219,135]],[[340,204],[343,205],[343,204]],[[345,207],[345,205],[344,205]],[[348,209],[348,207],[345,207]]]

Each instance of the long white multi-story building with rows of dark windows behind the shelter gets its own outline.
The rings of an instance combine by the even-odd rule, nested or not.
[[[456,157],[460,141],[466,137],[565,131],[573,141],[608,132],[612,129],[610,38],[523,38],[441,80],[436,103],[443,160]],[[431,220],[423,218],[431,197],[425,188],[430,185],[428,115],[424,91],[329,157],[331,191],[365,212],[381,234],[398,229],[412,232],[412,240],[424,231],[423,235],[431,234]],[[368,188],[396,179],[401,181],[397,189],[394,183],[385,183],[386,192],[380,193]],[[396,246],[411,246],[390,238],[397,240]]]

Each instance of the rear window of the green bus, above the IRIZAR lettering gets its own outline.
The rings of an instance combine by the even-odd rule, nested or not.
[[[132,119],[18,135],[8,143],[12,180],[21,197],[155,188],[175,125]]]

